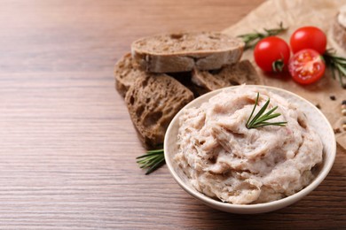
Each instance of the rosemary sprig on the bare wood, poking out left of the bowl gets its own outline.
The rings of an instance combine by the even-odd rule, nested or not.
[[[153,173],[165,163],[163,149],[149,150],[145,155],[136,157],[136,159],[138,159],[137,163],[140,168],[147,169],[145,175]]]

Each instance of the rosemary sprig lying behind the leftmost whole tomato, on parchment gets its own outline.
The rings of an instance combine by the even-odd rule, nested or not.
[[[265,33],[250,33],[245,35],[239,35],[243,42],[245,42],[245,50],[248,50],[249,48],[253,48],[256,46],[256,43],[259,42],[264,37],[269,37],[273,35],[279,35],[280,33],[287,30],[288,27],[283,27],[282,21],[279,23],[279,28],[272,28],[272,29],[266,29],[264,28]]]

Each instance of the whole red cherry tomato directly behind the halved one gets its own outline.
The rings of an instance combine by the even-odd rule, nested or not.
[[[326,51],[326,34],[318,27],[301,27],[295,30],[289,41],[293,53],[312,49],[324,54]]]

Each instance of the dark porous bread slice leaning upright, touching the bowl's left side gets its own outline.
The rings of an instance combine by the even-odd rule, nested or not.
[[[174,78],[149,73],[136,79],[125,96],[130,118],[147,149],[163,143],[171,119],[192,100],[193,93]]]

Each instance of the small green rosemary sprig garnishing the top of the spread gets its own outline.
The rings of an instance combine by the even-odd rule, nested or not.
[[[273,111],[276,111],[276,109],[278,109],[278,106],[275,106],[270,111],[263,114],[264,111],[267,109],[268,104],[271,102],[271,98],[268,98],[268,101],[266,103],[264,103],[261,110],[257,112],[257,114],[255,115],[255,117],[253,119],[251,119],[252,115],[254,114],[254,111],[256,109],[256,105],[258,103],[258,98],[259,98],[259,93],[257,93],[255,106],[254,106],[254,109],[251,111],[251,114],[250,114],[250,117],[248,118],[248,122],[246,124],[246,127],[248,129],[250,129],[250,128],[257,128],[257,127],[262,127],[262,126],[286,126],[286,124],[287,124],[286,121],[267,122],[267,120],[275,119],[281,115],[280,113],[273,113],[272,114]]]

